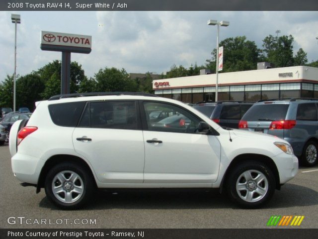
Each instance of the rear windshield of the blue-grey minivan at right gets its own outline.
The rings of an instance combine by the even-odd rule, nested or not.
[[[242,117],[245,121],[284,120],[289,104],[253,105]]]

